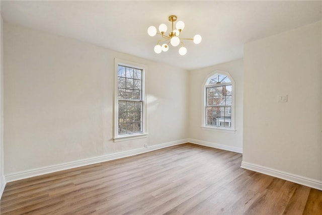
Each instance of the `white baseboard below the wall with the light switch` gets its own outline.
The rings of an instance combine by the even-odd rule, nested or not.
[[[255,172],[263,173],[265,175],[274,176],[276,178],[281,178],[281,179],[291,181],[297,184],[301,184],[304,186],[312,187],[318,190],[322,190],[322,181],[318,181],[312,178],[306,178],[300,175],[295,175],[288,172],[284,172],[284,171],[280,171],[280,170],[276,170],[268,167],[263,167],[261,165],[251,164],[244,161],[241,162],[240,167],[244,169],[252,170]]]

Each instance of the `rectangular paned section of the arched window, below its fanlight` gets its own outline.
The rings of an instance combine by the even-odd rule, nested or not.
[[[231,128],[231,85],[206,88],[206,125]]]

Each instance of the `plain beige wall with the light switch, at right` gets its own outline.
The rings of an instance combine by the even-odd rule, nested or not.
[[[243,162],[322,180],[321,22],[245,45]]]

